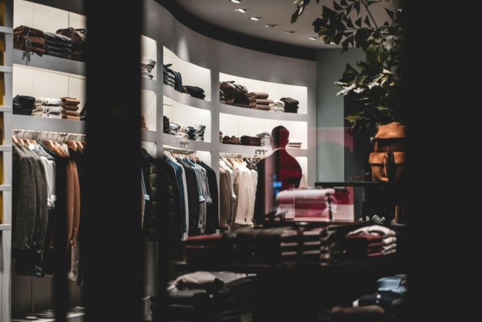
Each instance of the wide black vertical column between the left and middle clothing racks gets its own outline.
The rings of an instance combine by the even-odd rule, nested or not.
[[[87,321],[142,321],[140,26],[143,1],[86,1]]]

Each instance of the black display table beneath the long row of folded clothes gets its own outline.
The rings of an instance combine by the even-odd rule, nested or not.
[[[258,276],[253,321],[319,321],[334,305],[351,306],[359,296],[377,291],[377,279],[406,274],[397,254],[344,259],[330,265],[256,265],[175,263],[178,272],[228,271]]]

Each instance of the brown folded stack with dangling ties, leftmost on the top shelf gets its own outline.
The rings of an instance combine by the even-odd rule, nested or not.
[[[26,57],[27,61],[30,61],[30,56],[34,53],[42,57],[45,48],[45,33],[28,26],[19,26],[13,30],[13,48],[22,50],[22,59]]]

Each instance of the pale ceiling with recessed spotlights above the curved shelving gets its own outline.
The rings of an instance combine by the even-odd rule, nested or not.
[[[381,1],[370,6],[370,12],[373,13],[377,23],[383,23],[388,19],[384,8],[396,9],[401,6],[401,0]],[[232,3],[230,0],[176,0],[176,4],[182,10],[213,26],[250,37],[313,49],[339,47],[325,44],[321,38],[308,39],[308,37],[317,37],[312,23],[316,18],[321,18],[322,6],[333,8],[332,3],[332,0],[320,0],[319,3],[311,0],[298,21],[291,23],[291,15],[296,10],[295,0],[244,0],[241,3]],[[237,8],[249,10],[243,14],[235,11]],[[252,21],[249,17],[262,17],[262,19]],[[267,28],[264,26],[266,24],[278,26]],[[294,30],[296,33],[285,34],[284,32],[288,30]]]

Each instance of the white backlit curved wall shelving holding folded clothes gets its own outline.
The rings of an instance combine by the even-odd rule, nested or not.
[[[0,72],[10,81],[6,86],[4,105],[0,106],[3,114],[3,138],[10,137],[14,129],[85,134],[83,121],[65,119],[44,119],[13,115],[11,101],[15,94],[32,97],[76,97],[85,104],[85,63],[70,59],[61,59],[44,55],[32,55],[30,62],[22,59],[21,50],[12,50],[12,26],[32,26],[44,31],[55,31],[65,26],[85,28],[85,17],[75,12],[59,8],[50,8],[43,4],[23,1],[10,1],[12,18],[10,25],[0,28],[6,34],[10,45],[5,57],[5,66]],[[13,12],[13,7],[15,11]],[[141,112],[147,130],[141,130],[141,145],[154,157],[162,155],[165,146],[196,150],[207,165],[217,174],[218,159],[221,153],[256,154],[259,147],[247,145],[227,145],[220,143],[220,132],[224,135],[241,137],[271,131],[276,125],[284,125],[291,132],[291,139],[302,141],[302,148],[289,149],[300,158],[304,172],[315,181],[315,84],[316,63],[300,59],[278,57],[253,50],[246,50],[220,43],[189,30],[154,0],[144,0],[143,8],[149,16],[156,19],[145,21],[141,36],[143,57],[156,61],[152,70],[153,79],[141,79]],[[19,11],[17,11],[19,10]],[[19,14],[19,13],[22,14]],[[18,13],[18,14],[17,14]],[[26,14],[28,13],[28,14]],[[55,15],[50,19],[49,15]],[[42,19],[34,19],[42,17]],[[30,19],[30,20],[29,20]],[[202,46],[200,46],[202,44]],[[235,61],[233,61],[235,57]],[[202,88],[205,99],[191,97],[178,92],[163,83],[163,65],[172,64],[171,69],[182,74],[183,85]],[[279,68],[284,66],[284,68]],[[120,68],[120,67],[118,67]],[[106,79],[108,82],[108,79]],[[268,92],[272,99],[292,97],[297,99],[297,113],[270,112],[239,108],[220,103],[220,81],[235,81],[252,92]],[[174,137],[163,133],[163,116],[169,121],[185,125],[206,125],[204,141],[194,141]],[[271,153],[271,149],[267,154]],[[3,154],[4,169],[12,168],[11,146],[0,145]],[[8,173],[7,173],[8,172]],[[219,176],[218,176],[219,177]],[[4,172],[3,185],[0,185],[3,197],[3,221],[0,223],[2,238],[1,263],[1,305],[2,321],[10,321],[10,230],[11,230],[11,171]],[[309,179],[308,179],[309,180]],[[8,287],[4,287],[8,285]]]

